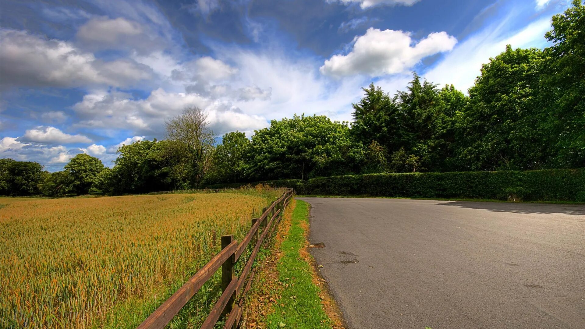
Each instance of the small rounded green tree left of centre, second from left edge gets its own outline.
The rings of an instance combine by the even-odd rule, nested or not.
[[[75,194],[87,194],[95,183],[104,164],[97,157],[80,153],[74,156],[64,169],[70,177],[70,189]]]

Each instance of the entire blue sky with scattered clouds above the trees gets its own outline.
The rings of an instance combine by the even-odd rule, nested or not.
[[[566,0],[2,0],[0,158],[51,172],[164,138],[203,109],[218,136],[294,114],[350,121],[362,87],[412,71],[467,92],[505,50],[548,46]]]

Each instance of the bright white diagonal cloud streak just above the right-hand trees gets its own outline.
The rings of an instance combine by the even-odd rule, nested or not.
[[[453,84],[457,89],[466,91],[479,76],[481,65],[488,63],[490,57],[504,52],[507,44],[510,44],[513,49],[540,48],[546,45],[544,35],[550,30],[549,18],[536,20],[511,35],[504,28],[507,21],[508,18],[503,19],[504,23],[487,26],[476,35],[463,40],[422,76],[434,83]]]

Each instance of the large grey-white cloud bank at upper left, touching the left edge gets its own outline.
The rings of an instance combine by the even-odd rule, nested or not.
[[[83,87],[131,85],[152,77],[136,61],[102,61],[70,42],[0,29],[0,85]]]

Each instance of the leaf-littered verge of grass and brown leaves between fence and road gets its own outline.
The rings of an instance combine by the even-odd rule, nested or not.
[[[343,328],[339,318],[328,315],[335,309],[334,302],[320,287],[306,251],[309,205],[300,200],[294,203],[290,216],[285,214],[283,227],[288,232],[277,242],[277,259],[260,278],[260,292],[255,292],[270,307],[252,306],[256,317],[249,318],[249,327]]]

